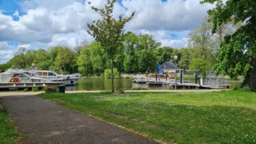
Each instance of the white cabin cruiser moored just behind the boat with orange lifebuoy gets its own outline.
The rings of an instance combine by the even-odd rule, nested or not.
[[[63,85],[74,85],[80,78],[80,74],[61,75],[53,70],[29,70],[25,73],[38,78],[46,78],[48,81],[59,82]]]

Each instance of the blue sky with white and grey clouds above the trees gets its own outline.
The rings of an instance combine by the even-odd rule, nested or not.
[[[90,0],[103,8],[106,0]],[[200,27],[207,11],[214,5],[199,4],[200,0],[118,0],[114,16],[134,18],[125,30],[150,34],[162,46],[187,46],[188,33]],[[18,51],[51,46],[74,48],[81,42],[94,41],[87,33],[87,23],[100,18],[87,0],[1,0],[0,2],[0,63],[6,63]]]

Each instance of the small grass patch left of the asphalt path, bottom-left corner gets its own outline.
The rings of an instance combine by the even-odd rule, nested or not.
[[[6,109],[0,110],[0,143],[15,143],[18,136]]]

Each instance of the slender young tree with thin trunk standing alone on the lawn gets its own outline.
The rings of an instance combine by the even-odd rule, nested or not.
[[[122,44],[122,38],[125,34],[124,25],[134,16],[134,12],[132,12],[129,17],[122,18],[122,15],[120,15],[118,19],[115,19],[113,16],[115,1],[116,0],[108,0],[103,9],[92,6],[91,9],[98,12],[102,18],[93,20],[92,23],[87,23],[87,27],[89,28],[87,32],[100,42],[100,45],[104,48],[104,51],[108,53],[111,59],[112,92],[115,92],[113,80],[113,59],[117,52],[117,48]],[[90,4],[91,2],[88,3]]]

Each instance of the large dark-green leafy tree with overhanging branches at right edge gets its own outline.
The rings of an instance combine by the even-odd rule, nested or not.
[[[255,0],[203,0],[201,3],[216,3],[209,10],[209,21],[213,23],[212,33],[221,25],[242,23],[234,33],[226,35],[221,42],[216,74],[245,75],[242,87],[256,90],[256,2]]]

